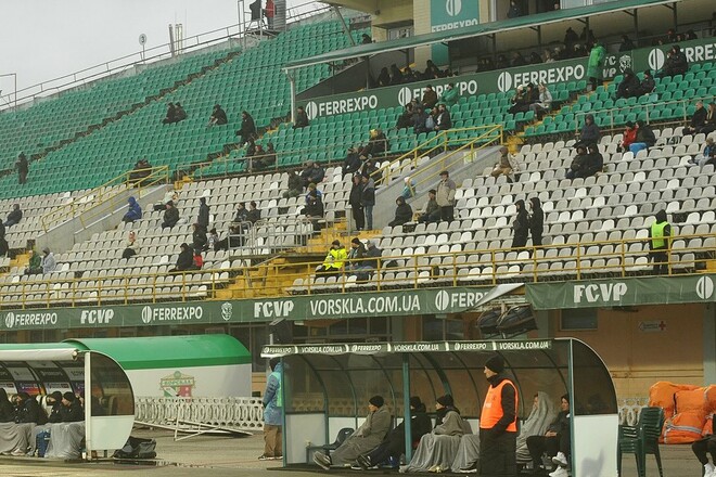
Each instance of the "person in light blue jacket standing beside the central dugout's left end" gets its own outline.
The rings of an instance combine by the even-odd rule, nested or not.
[[[280,358],[269,361],[271,373],[266,379],[264,391],[264,453],[259,461],[270,461],[283,456],[283,364]]]

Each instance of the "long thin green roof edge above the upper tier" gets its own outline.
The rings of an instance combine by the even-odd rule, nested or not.
[[[537,13],[535,15],[508,18],[499,22],[490,22],[480,25],[466,26],[462,28],[450,29],[446,31],[433,31],[413,37],[398,38],[392,41],[381,41],[370,44],[360,44],[356,47],[336,50],[329,53],[309,56],[303,60],[290,62],[285,70],[302,68],[305,66],[349,60],[358,56],[368,56],[371,54],[383,53],[386,51],[406,50],[426,44],[444,43],[448,41],[462,40],[465,38],[491,35],[519,28],[538,27],[551,23],[564,22],[566,20],[576,20],[589,16],[597,16],[604,13],[622,12],[625,10],[642,9],[644,7],[662,5],[666,3],[676,3],[674,0],[619,0],[608,3],[599,3],[589,7],[578,7],[575,9],[565,9],[557,12]]]

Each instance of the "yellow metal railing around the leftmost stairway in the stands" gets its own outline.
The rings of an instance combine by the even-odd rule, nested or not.
[[[139,175],[139,177],[137,177]],[[157,166],[150,169],[133,169],[124,172],[114,179],[92,189],[91,191],[75,197],[71,203],[60,206],[40,217],[42,230],[48,232],[53,227],[66,222],[75,217],[79,217],[82,227],[92,223],[106,210],[99,211],[99,207],[110,203],[115,207],[122,204],[119,197],[127,189],[136,188],[137,195],[141,197],[148,188],[168,183],[169,168],[167,166]],[[91,212],[91,209],[98,211]]]

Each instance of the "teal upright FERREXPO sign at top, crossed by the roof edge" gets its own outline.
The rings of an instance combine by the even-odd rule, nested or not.
[[[430,2],[431,31],[449,31],[480,24],[477,0],[432,0]],[[445,65],[449,61],[447,44],[433,44],[433,62]]]

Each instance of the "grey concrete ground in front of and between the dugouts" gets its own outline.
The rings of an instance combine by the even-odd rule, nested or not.
[[[0,476],[3,477],[105,477],[114,475],[137,477],[183,476],[277,476],[306,477],[329,474],[316,466],[304,469],[281,469],[280,461],[258,461],[263,453],[261,435],[246,438],[197,436],[174,441],[174,434],[159,429],[141,429],[137,437],[156,439],[157,460],[154,465],[117,464],[112,461],[92,463],[65,463],[30,457],[0,457]],[[690,446],[662,446],[664,477],[701,476],[701,465],[694,459]],[[306,472],[309,470],[309,472]],[[373,475],[387,472],[372,470]],[[332,470],[332,475],[358,476],[357,470]],[[399,475],[393,473],[394,475]],[[625,455],[623,477],[638,477],[634,455]],[[659,476],[652,455],[647,456],[647,476]],[[580,476],[581,477],[581,476]]]

